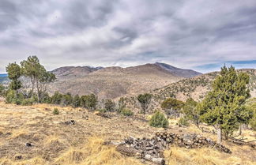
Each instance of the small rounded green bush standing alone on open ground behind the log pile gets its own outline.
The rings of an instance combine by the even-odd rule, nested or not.
[[[160,111],[156,111],[156,114],[152,115],[152,118],[149,120],[149,126],[167,128],[168,125],[168,119]]]

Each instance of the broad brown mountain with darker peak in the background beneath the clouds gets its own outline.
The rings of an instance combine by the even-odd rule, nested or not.
[[[70,92],[73,95],[96,94],[100,99],[115,99],[150,92],[154,88],[193,77],[201,73],[179,69],[163,63],[145,64],[122,68],[66,66],[52,71],[57,81],[51,84],[49,92]],[[180,74],[180,75],[179,75]]]

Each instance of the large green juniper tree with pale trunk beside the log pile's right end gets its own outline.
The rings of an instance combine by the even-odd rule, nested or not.
[[[199,105],[201,120],[217,129],[218,142],[238,129],[239,124],[247,122],[248,111],[244,107],[250,96],[247,89],[249,76],[247,73],[237,73],[235,68],[221,68],[220,75],[213,81],[213,89],[208,92]]]

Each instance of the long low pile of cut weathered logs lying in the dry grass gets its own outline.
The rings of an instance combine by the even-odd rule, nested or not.
[[[124,143],[119,144],[117,151],[126,156],[135,156],[140,159],[152,161],[156,164],[164,165],[164,149],[168,149],[170,144],[174,144],[184,148],[201,148],[211,147],[216,148],[220,152],[232,153],[228,148],[215,141],[201,137],[197,134],[182,134],[177,133],[156,133],[156,136],[149,138],[134,138],[128,137]]]

